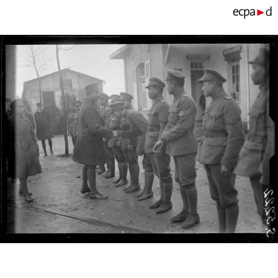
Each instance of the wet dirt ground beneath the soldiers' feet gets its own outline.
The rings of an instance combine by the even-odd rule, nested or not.
[[[73,145],[69,139],[69,152]],[[72,157],[57,156],[64,152],[63,136],[55,136],[53,141],[54,155],[43,157],[41,142],[40,163],[43,173],[28,178],[28,188],[35,199],[34,205],[56,212],[108,221],[114,224],[142,229],[153,233],[217,233],[218,218],[216,204],[209,194],[209,186],[205,170],[196,163],[198,190],[198,212],[200,224],[184,230],[180,224],[172,224],[169,219],[180,212],[182,200],[179,186],[174,182],[172,203],[173,208],[166,213],[156,214],[149,209],[149,204],[159,196],[159,182],[154,178],[154,198],[137,201],[136,193],[127,194],[123,187],[115,187],[114,178],[106,179],[97,175],[98,190],[109,195],[107,200],[90,200],[89,195],[80,194],[82,183],[81,164],[72,161]],[[48,145],[47,151],[49,152]],[[139,181],[143,188],[144,175],[139,157]],[[117,165],[117,163],[116,163]],[[117,167],[116,167],[117,168]],[[171,159],[172,176],[174,164]],[[118,176],[116,169],[116,177]],[[128,176],[129,178],[129,176]],[[262,233],[262,224],[256,213],[253,190],[248,178],[237,177],[236,188],[239,191],[239,219],[236,233]],[[24,202],[23,196],[18,196],[18,181],[8,183],[7,197],[10,200]],[[121,230],[107,228],[90,223],[84,223],[60,216],[36,212],[24,207],[8,205],[8,233],[124,233]]]

